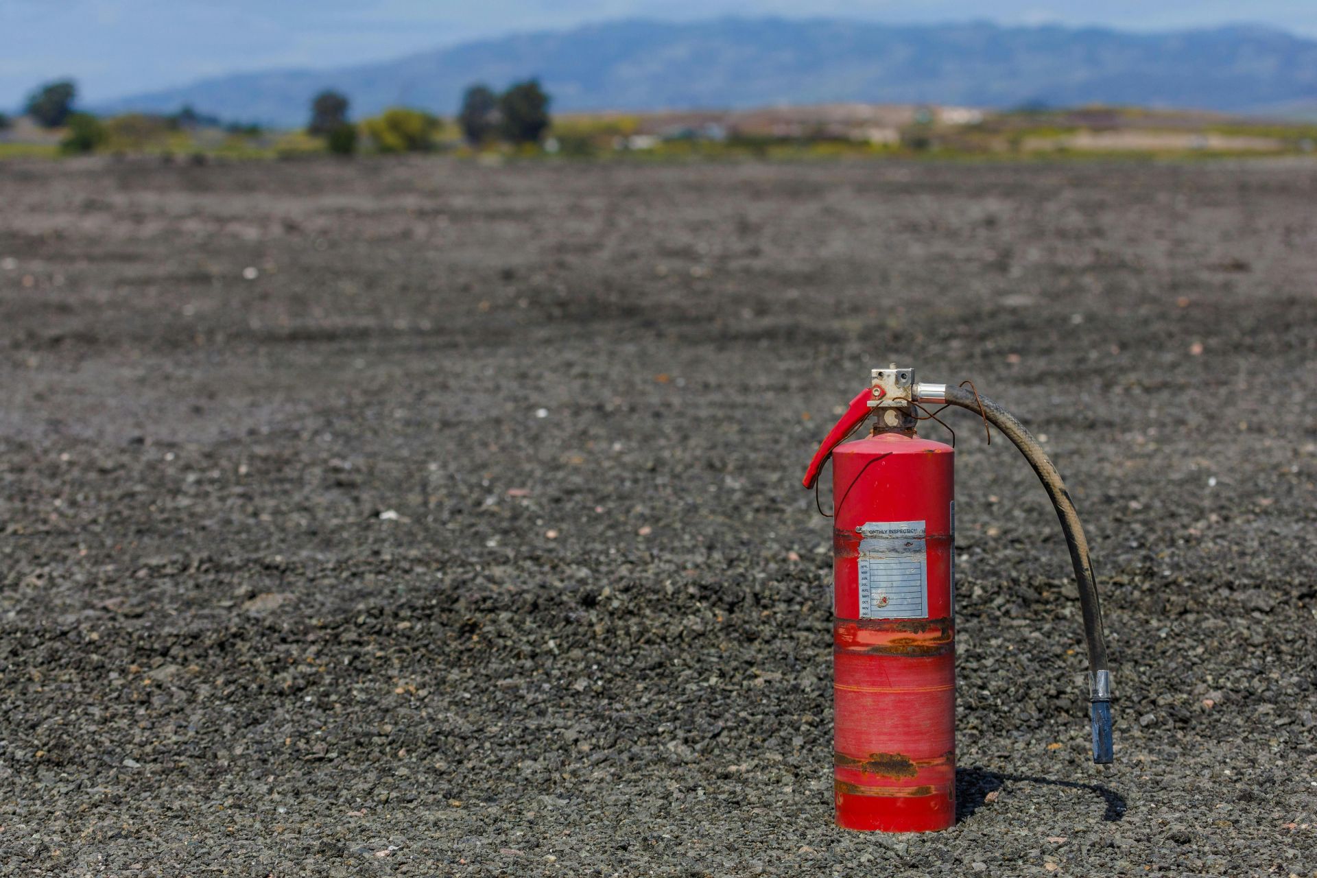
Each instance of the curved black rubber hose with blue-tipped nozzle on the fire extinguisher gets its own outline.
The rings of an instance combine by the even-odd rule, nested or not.
[[[944,399],[950,405],[969,409],[989,421],[1015,444],[1034,469],[1038,479],[1047,490],[1047,496],[1056,509],[1065,534],[1071,562],[1075,566],[1075,581],[1079,584],[1080,611],[1084,616],[1084,638],[1088,645],[1088,669],[1092,681],[1090,719],[1093,721],[1093,761],[1112,761],[1112,675],[1106,665],[1106,638],[1102,634],[1102,609],[1097,600],[1097,581],[1093,577],[1093,563],[1088,557],[1088,540],[1084,527],[1079,523],[1075,502],[1062,480],[1056,466],[1047,458],[1042,445],[1019,420],[986,396],[964,387],[946,387]]]

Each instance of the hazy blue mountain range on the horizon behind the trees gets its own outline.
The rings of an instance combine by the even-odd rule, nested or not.
[[[356,117],[394,104],[452,115],[470,83],[527,76],[540,78],[556,111],[1108,103],[1317,116],[1317,41],[1267,28],[1146,34],[784,18],[616,21],[337,70],[234,74],[96,109],[191,104],[229,120],[300,125],[312,95],[337,88]]]

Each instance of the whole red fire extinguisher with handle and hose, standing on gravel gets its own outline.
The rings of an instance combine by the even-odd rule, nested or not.
[[[1009,412],[964,387],[874,369],[810,461],[832,459],[834,788],[848,829],[923,832],[956,820],[955,452],[915,433],[959,405],[1025,454],[1056,508],[1088,641],[1093,761],[1112,761],[1112,683],[1088,542],[1060,474]],[[936,412],[934,412],[935,415]],[[876,416],[864,438],[846,441]]]

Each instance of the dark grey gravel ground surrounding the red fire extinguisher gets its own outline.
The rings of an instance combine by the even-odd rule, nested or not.
[[[0,165],[0,873],[1309,875],[1317,166]],[[832,823],[830,527],[959,432],[959,824]],[[927,430],[938,437],[939,429]],[[826,477],[824,477],[826,478]]]

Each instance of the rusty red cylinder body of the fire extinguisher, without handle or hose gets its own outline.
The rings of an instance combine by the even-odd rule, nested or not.
[[[832,453],[834,782],[849,829],[955,823],[954,461],[894,432]]]

